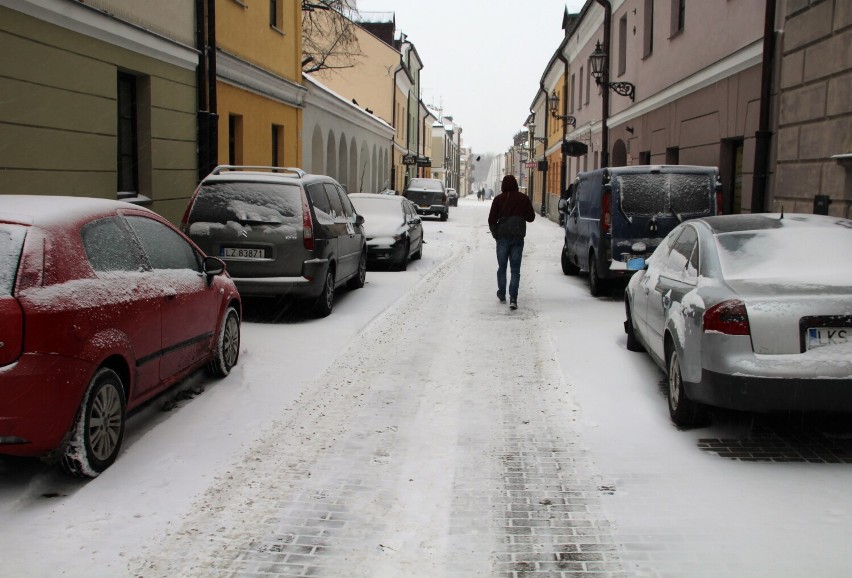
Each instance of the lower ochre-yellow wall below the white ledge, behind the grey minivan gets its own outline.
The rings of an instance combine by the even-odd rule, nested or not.
[[[279,165],[302,166],[301,109],[264,98],[253,92],[218,83],[219,97],[219,164],[229,159],[229,119],[238,118],[235,133],[235,164],[269,166],[272,159],[272,125],[283,129],[279,139]]]

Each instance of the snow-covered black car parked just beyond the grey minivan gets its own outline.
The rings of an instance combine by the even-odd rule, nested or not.
[[[414,203],[399,196],[369,193],[349,198],[364,216],[368,263],[387,263],[405,271],[409,258],[423,256],[423,223]]]

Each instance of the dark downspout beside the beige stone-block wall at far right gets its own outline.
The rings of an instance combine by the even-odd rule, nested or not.
[[[769,177],[769,148],[772,132],[769,130],[772,102],[772,67],[775,57],[775,11],[777,0],[766,0],[763,21],[763,64],[760,79],[760,118],[754,142],[754,174],[752,176],[751,212],[766,210],[766,183]]]

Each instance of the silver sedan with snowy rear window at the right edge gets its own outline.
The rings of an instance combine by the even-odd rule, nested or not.
[[[666,372],[672,420],[852,410],[850,254],[850,220],[743,214],[687,221],[631,262],[627,348]]]

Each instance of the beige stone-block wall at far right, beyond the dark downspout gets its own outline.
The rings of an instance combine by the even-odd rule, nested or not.
[[[852,3],[788,1],[773,210],[852,218]],[[823,199],[824,200],[824,199]]]

